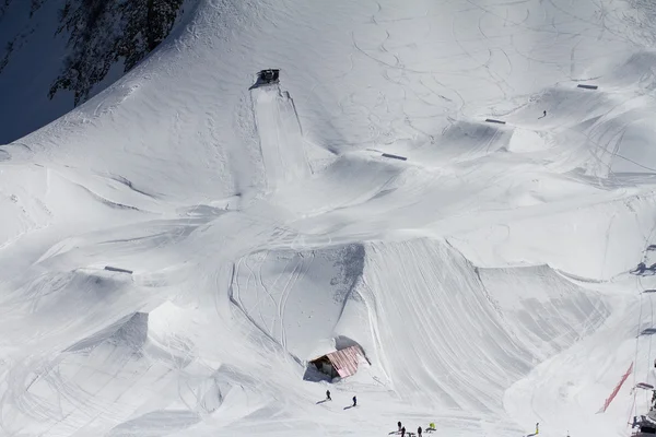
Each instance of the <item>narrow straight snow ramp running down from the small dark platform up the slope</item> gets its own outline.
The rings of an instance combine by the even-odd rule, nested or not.
[[[276,80],[251,87],[250,97],[259,135],[268,191],[309,175],[303,131],[294,102]]]

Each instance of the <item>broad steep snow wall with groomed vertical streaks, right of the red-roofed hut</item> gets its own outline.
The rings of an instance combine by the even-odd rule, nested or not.
[[[502,414],[512,381],[609,312],[548,268],[479,270],[441,241],[371,244],[367,255],[361,293],[390,382],[445,409]]]

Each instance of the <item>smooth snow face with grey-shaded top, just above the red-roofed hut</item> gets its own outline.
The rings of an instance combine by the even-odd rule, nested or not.
[[[231,299],[286,351],[312,359],[331,352],[363,264],[361,245],[251,253],[235,264]]]

